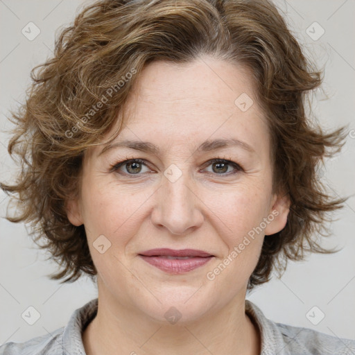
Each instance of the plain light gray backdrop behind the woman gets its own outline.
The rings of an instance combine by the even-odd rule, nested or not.
[[[67,26],[79,6],[87,1],[0,0],[0,171],[1,180],[15,172],[6,153],[11,128],[8,110],[24,100],[31,69],[51,55],[55,31]],[[314,254],[304,262],[289,263],[281,280],[272,279],[248,296],[274,321],[309,327],[332,336],[355,339],[355,1],[276,1],[304,49],[324,65],[324,92],[317,90],[313,110],[324,128],[349,123],[347,144],[338,157],[327,162],[323,179],[339,196],[353,195],[333,223],[326,246],[343,247],[333,255]],[[33,21],[40,35],[28,40],[21,30]],[[313,32],[312,40],[306,33]],[[309,27],[313,24],[311,27]],[[329,98],[325,99],[325,94]],[[8,198],[0,191],[0,216],[5,216]],[[56,266],[37,250],[26,227],[0,219],[0,344],[24,341],[67,324],[74,309],[96,297],[87,278],[60,285],[46,277]],[[21,314],[33,306],[40,318],[32,326]],[[324,319],[313,325],[306,313],[317,306]],[[320,311],[311,312],[317,320]],[[314,322],[314,321],[313,321]]]

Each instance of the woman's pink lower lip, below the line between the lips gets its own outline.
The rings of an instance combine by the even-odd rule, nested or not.
[[[170,274],[182,274],[195,270],[202,265],[208,263],[213,257],[194,257],[189,259],[166,259],[164,257],[146,257],[145,255],[139,255],[141,259],[150,263],[150,265],[159,268]]]

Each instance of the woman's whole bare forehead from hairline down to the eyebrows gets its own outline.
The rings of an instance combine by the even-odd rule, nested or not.
[[[123,117],[123,130],[115,140],[192,150],[207,139],[239,139],[259,150],[268,148],[251,74],[223,60],[151,62],[132,87]]]

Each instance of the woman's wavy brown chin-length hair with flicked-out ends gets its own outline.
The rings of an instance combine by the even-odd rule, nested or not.
[[[96,275],[85,228],[71,225],[65,208],[80,191],[85,150],[101,144],[117,116],[122,127],[121,109],[146,64],[186,63],[201,55],[250,69],[270,130],[272,189],[291,200],[286,227],[265,236],[248,288],[305,251],[334,252],[317,238],[329,234],[328,213],[345,199],[327,194],[317,168],[340,150],[345,132],[326,134],[306,115],[306,94],[320,85],[322,73],[312,69],[275,5],[104,0],[84,8],[60,33],[53,58],[31,71],[26,103],[12,112],[8,151],[19,158],[21,172],[14,184],[1,184],[17,207],[17,215],[7,218],[31,224],[33,239],[61,266],[52,279]]]

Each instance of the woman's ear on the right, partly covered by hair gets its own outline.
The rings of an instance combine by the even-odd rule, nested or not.
[[[291,200],[288,193],[275,195],[272,198],[272,207],[269,211],[268,220],[270,223],[265,228],[265,235],[275,234],[284,229],[287,223],[288,212],[290,211]],[[273,216],[273,219],[272,219]]]

